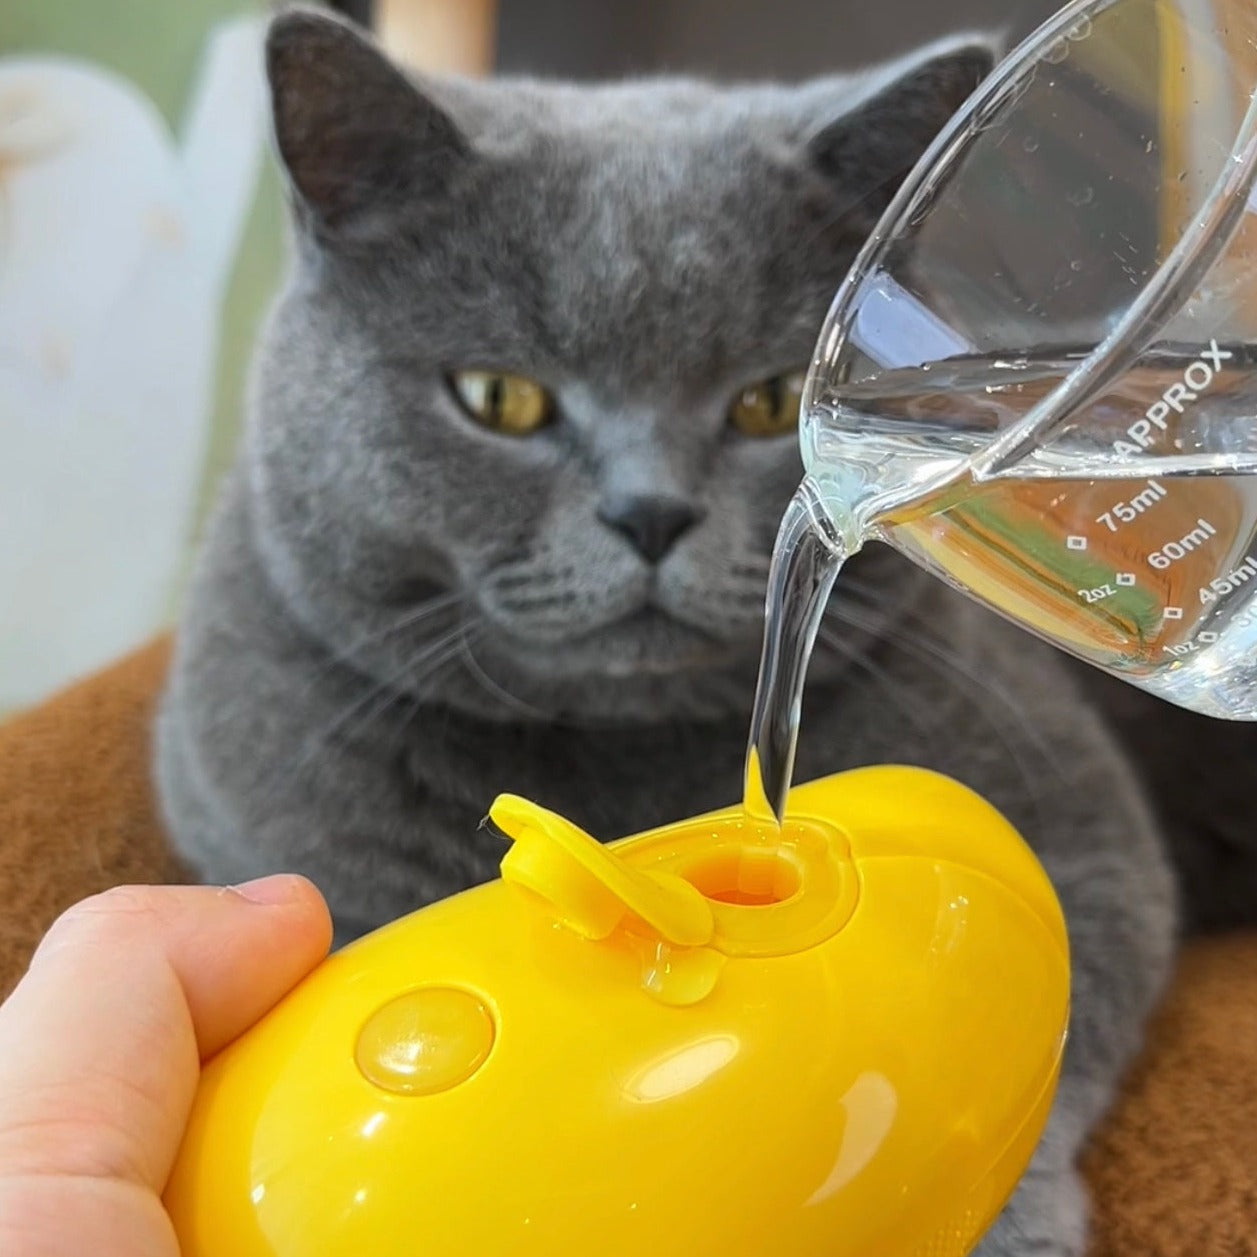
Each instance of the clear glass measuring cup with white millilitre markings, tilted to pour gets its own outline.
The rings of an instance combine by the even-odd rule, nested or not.
[[[808,483],[1071,654],[1257,719],[1257,5],[1079,0],[835,299]]]

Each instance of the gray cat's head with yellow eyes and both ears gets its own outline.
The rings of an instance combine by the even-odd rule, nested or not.
[[[749,703],[817,329],[987,62],[421,94],[348,28],[279,19],[300,260],[250,468],[307,623],[456,703]]]

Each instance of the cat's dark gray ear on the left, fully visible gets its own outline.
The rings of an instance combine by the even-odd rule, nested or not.
[[[469,146],[453,119],[347,21],[289,9],[266,38],[275,142],[317,234],[370,238],[439,195]]]

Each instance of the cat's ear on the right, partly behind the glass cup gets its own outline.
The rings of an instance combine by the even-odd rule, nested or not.
[[[998,53],[994,38],[952,38],[870,72],[856,101],[808,140],[811,162],[843,199],[880,214]]]

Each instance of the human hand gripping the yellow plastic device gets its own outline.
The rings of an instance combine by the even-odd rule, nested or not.
[[[161,1193],[201,1061],[331,939],[293,876],[127,886],[65,913],[0,1006],[0,1253],[177,1257]]]

